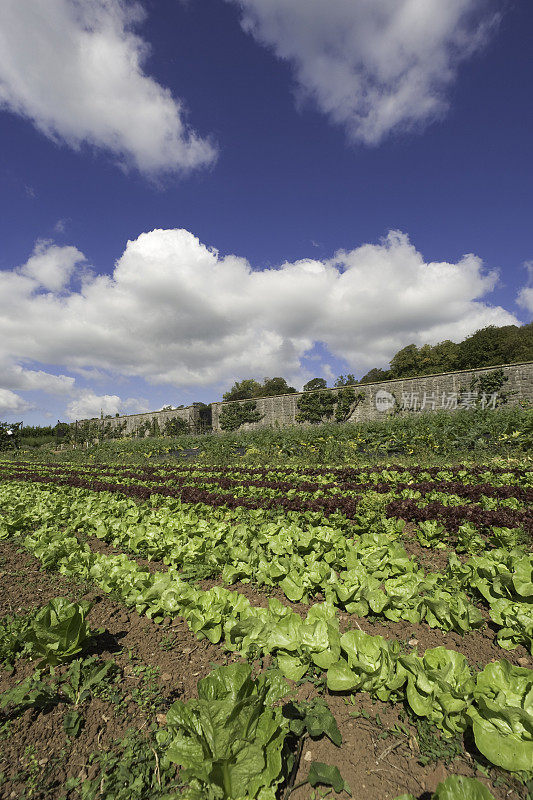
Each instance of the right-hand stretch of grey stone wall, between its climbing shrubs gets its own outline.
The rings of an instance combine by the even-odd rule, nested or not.
[[[496,369],[502,369],[508,380],[502,387],[502,392],[508,395],[508,404],[516,405],[521,400],[533,403],[533,362],[511,364],[501,367],[487,367],[485,369],[462,370],[461,372],[446,372],[439,375],[424,375],[418,378],[399,378],[381,383],[365,383],[355,387],[356,392],[362,391],[365,398],[357,405],[349,417],[349,422],[363,422],[367,420],[384,419],[394,409],[402,409],[402,414],[412,414],[417,411],[454,410],[455,407],[464,407],[466,404],[489,406],[494,402],[490,395],[477,396],[468,394],[473,378],[481,377]],[[340,390],[331,389],[338,392]],[[466,393],[466,394],[465,394]],[[262,415],[259,422],[245,423],[239,430],[256,430],[258,428],[286,427],[309,423],[296,422],[298,413],[298,399],[301,392],[284,394],[278,397],[259,397],[256,400],[257,410]],[[220,433],[220,412],[225,406],[238,403],[231,402],[212,403],[213,431]]]

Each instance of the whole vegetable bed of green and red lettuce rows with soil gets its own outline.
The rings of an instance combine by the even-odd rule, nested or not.
[[[525,467],[0,462],[0,797],[525,800],[532,499]]]

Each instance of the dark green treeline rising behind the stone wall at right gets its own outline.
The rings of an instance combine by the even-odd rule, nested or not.
[[[457,372],[462,369],[480,369],[499,364],[533,361],[533,322],[528,325],[505,325],[497,328],[489,325],[462,342],[449,339],[439,344],[408,344],[391,358],[388,369],[374,367],[359,381],[355,375],[339,375],[334,388],[354,386],[360,383],[378,383],[394,378],[411,378],[416,375],[432,375],[439,372]],[[324,378],[312,378],[303,387],[304,392],[326,389]],[[233,384],[224,400],[253,400],[256,397],[272,397],[296,392],[285,378],[265,378],[259,383],[245,378]]]

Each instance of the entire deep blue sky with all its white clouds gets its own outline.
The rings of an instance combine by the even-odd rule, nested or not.
[[[530,3],[7,0],[0,419],[529,322]]]

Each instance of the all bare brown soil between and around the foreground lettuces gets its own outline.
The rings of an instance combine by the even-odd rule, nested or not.
[[[90,538],[87,541],[98,552],[119,552],[98,539]],[[151,572],[166,568],[160,562],[136,560]],[[83,706],[85,727],[80,736],[72,741],[67,740],[63,730],[64,706],[58,706],[48,713],[28,710],[10,721],[5,732],[0,727],[0,738],[3,740],[0,742],[0,775],[3,773],[0,800],[29,797],[32,800],[61,800],[63,797],[74,800],[78,795],[76,792],[65,794],[64,783],[68,778],[95,776],[96,767],[88,764],[90,753],[112,749],[113,742],[122,738],[128,729],[148,730],[155,723],[164,724],[164,716],[161,715],[174,699],[179,697],[187,700],[195,696],[198,679],[208,674],[216,664],[228,662],[228,656],[221,647],[211,645],[206,640],[199,642],[183,620],[175,618],[157,625],[95,591],[94,587],[45,573],[33,556],[17,549],[13,542],[0,542],[0,579],[3,590],[0,616],[41,606],[58,595],[93,602],[89,622],[92,627],[104,628],[105,633],[98,637],[90,652],[115,661],[120,669],[122,692],[119,707],[98,698],[87,701]],[[203,582],[204,588],[215,584],[219,584],[219,581]],[[297,613],[305,615],[308,611],[305,604],[289,603],[278,589],[266,593],[249,584],[237,584],[230,588],[245,594],[254,605],[264,606],[269,596],[278,596]],[[518,659],[521,659],[522,665],[533,667],[533,659],[523,648],[502,651],[495,644],[495,634],[491,629],[461,637],[455,633],[433,630],[424,624],[381,623],[342,613],[340,620],[343,630],[359,626],[367,633],[401,640],[407,651],[416,647],[422,654],[427,647],[444,645],[464,653],[473,667],[500,658],[507,658],[512,663],[518,663]],[[527,663],[524,663],[524,659],[527,659]],[[154,682],[159,694],[156,704],[149,708],[135,700],[135,690],[142,684],[142,678],[135,671],[139,665],[156,670]],[[0,670],[0,691],[14,686],[33,668],[33,664],[21,659],[16,662],[12,674]],[[300,700],[317,694],[317,688],[311,683],[295,689]],[[415,728],[406,721],[401,704],[373,702],[363,694],[355,695],[352,699],[326,692],[326,699],[341,730],[343,744],[337,748],[325,738],[307,740],[302,750],[296,784],[306,777],[310,761],[322,761],[337,765],[343,778],[351,785],[354,797],[364,795],[365,800],[395,798],[403,792],[411,792],[420,800],[427,800],[437,783],[448,774],[477,777],[489,786],[496,800],[525,800],[527,797],[524,787],[514,783],[505,773],[506,783],[495,785],[479,771],[476,772],[475,762],[467,751],[463,751],[450,764],[440,761],[422,765],[419,762]],[[370,716],[369,719],[353,716],[354,712],[357,714],[362,710]],[[380,721],[376,720],[376,714]],[[402,719],[410,735],[383,738],[384,732]],[[28,775],[32,774],[36,776],[36,786],[28,794]],[[496,773],[493,774],[495,776]],[[337,795],[333,793],[332,796]],[[309,786],[296,789],[291,794],[291,800],[308,800],[309,797]],[[150,798],[147,796],[146,800]]]

